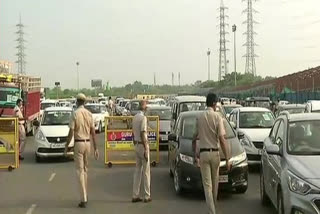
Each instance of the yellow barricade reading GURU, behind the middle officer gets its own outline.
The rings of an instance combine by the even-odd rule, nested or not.
[[[135,148],[132,134],[132,116],[112,116],[105,118],[105,164],[135,164]],[[148,119],[148,140],[150,162],[156,166],[159,154],[159,117]]]

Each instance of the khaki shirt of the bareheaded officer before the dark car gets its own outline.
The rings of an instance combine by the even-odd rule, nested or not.
[[[197,132],[200,149],[218,149],[219,137],[226,134],[220,114],[209,107],[198,117]]]

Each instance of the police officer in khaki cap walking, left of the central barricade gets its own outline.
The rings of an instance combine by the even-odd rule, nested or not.
[[[78,94],[77,96],[77,110],[71,117],[69,124],[68,142],[65,147],[65,155],[68,151],[68,146],[74,138],[74,159],[77,170],[77,175],[80,183],[81,202],[80,208],[85,208],[88,202],[88,156],[90,154],[91,140],[93,142],[94,156],[97,160],[99,152],[97,149],[94,121],[92,114],[84,108],[86,96]]]

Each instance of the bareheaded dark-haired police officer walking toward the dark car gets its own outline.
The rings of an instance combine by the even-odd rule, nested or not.
[[[196,148],[196,140],[199,139],[200,170],[202,183],[210,214],[216,214],[216,202],[219,184],[219,147],[226,158],[227,169],[230,170],[229,147],[225,140],[225,128],[223,119],[215,112],[218,98],[215,94],[207,96],[207,110],[197,120],[197,131],[193,139],[193,148]]]

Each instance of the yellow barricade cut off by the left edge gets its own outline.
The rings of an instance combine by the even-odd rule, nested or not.
[[[19,167],[19,135],[17,118],[0,118],[0,169]]]

